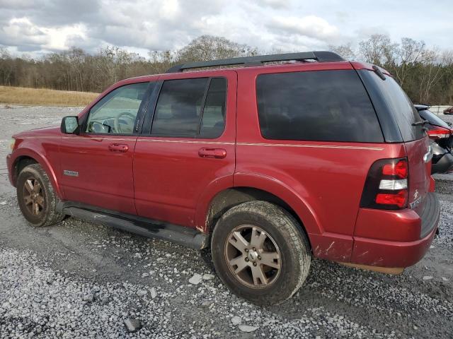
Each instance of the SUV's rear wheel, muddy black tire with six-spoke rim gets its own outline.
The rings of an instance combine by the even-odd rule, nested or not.
[[[309,274],[311,254],[301,225],[267,201],[226,211],[212,232],[211,251],[226,287],[260,306],[289,299]]]

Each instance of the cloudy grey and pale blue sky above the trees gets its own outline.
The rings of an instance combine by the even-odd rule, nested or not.
[[[453,49],[453,0],[0,0],[0,47],[39,56],[115,45],[146,56],[217,35],[260,51],[357,46],[374,33]]]

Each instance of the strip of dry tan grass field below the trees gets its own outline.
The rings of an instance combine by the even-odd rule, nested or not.
[[[3,104],[81,107],[97,96],[98,93],[0,86],[0,103]]]

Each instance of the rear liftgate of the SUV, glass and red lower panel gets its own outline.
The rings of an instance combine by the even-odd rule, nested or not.
[[[429,138],[425,133],[422,119],[406,93],[391,76],[385,80],[373,71],[366,71],[367,79],[373,81],[391,111],[394,124],[401,132],[409,163],[409,208],[421,215],[424,198],[430,187],[431,154]]]

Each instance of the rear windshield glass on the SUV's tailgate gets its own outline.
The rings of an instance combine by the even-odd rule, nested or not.
[[[379,88],[398,124],[403,141],[423,138],[425,136],[423,126],[412,126],[414,122],[421,121],[420,115],[398,83],[391,76],[386,76],[386,79],[382,80],[374,72],[370,71],[370,73],[372,73],[372,81]]]

